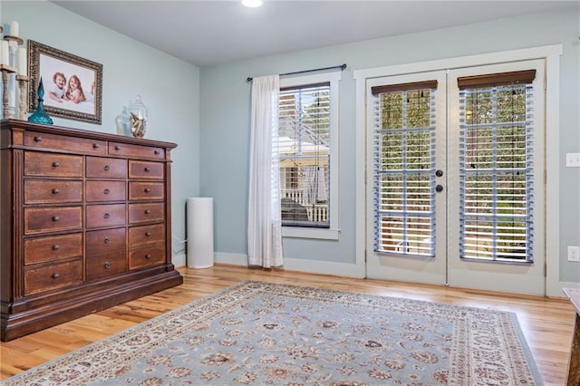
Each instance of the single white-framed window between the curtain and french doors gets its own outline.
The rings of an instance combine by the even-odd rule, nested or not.
[[[339,79],[340,73],[327,73],[280,81],[278,137],[272,143],[280,157],[286,229],[336,229]]]

